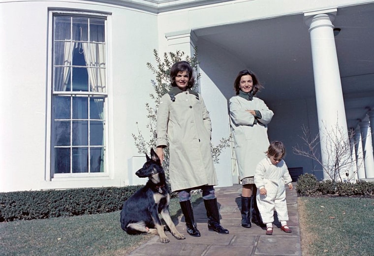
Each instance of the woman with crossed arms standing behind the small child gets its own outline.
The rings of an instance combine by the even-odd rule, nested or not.
[[[257,163],[266,157],[269,146],[267,125],[274,113],[262,99],[255,97],[261,85],[252,71],[240,71],[234,88],[236,96],[230,98],[230,119],[242,181],[242,226],[251,227],[251,222],[261,226],[253,176]]]

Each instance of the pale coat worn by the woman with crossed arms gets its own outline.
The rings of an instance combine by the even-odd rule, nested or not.
[[[254,116],[246,110],[258,110],[262,118],[254,124]],[[230,98],[231,128],[240,180],[254,176],[257,163],[266,157],[270,144],[267,125],[273,115],[273,111],[257,97],[252,100],[241,96]]]

